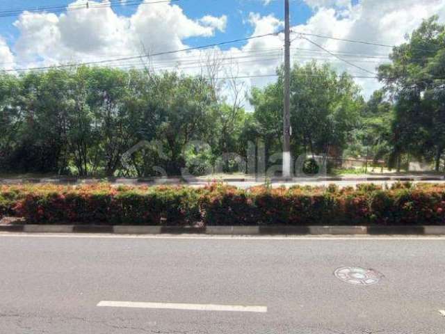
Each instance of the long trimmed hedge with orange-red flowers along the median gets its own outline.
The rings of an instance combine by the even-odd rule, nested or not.
[[[40,224],[445,225],[445,186],[1,186],[1,216]]]

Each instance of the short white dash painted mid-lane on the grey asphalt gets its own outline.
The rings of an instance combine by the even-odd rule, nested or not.
[[[99,307],[108,308],[154,308],[164,310],[194,310],[220,312],[259,312],[266,313],[266,306],[185,304],[185,303],[143,303],[134,301],[101,301]]]

